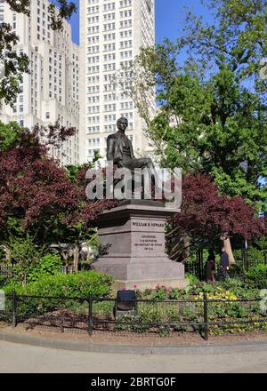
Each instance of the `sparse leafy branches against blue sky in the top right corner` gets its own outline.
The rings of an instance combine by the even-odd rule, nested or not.
[[[214,20],[205,23],[201,17],[188,12],[178,46],[186,48],[190,57],[193,52],[195,58],[204,61],[207,69],[214,68],[215,60],[221,60],[230,63],[239,77],[258,79],[261,60],[267,54],[266,1],[212,0],[203,3],[209,9],[206,12],[213,13]]]

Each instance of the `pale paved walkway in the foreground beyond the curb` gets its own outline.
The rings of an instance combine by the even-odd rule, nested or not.
[[[267,372],[267,351],[138,355],[75,352],[0,341],[1,373]]]

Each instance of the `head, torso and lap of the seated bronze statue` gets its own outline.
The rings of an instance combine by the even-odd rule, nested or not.
[[[110,134],[107,140],[107,160],[113,162],[118,168],[128,168],[134,171],[135,168],[148,168],[154,171],[154,164],[150,157],[136,158],[134,156],[133,144],[125,135],[125,130],[128,127],[126,118],[117,120],[118,131]]]

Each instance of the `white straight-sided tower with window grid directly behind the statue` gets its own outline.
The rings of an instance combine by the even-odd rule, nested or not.
[[[117,119],[129,121],[127,135],[140,155],[148,141],[134,102],[114,83],[142,46],[155,44],[155,0],[80,0],[80,159],[106,156],[106,140]],[[151,110],[155,110],[151,95]]]

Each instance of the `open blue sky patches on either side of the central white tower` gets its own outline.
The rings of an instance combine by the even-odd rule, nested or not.
[[[72,0],[78,4],[78,0]],[[190,8],[197,15],[202,15],[205,20],[210,15],[201,5],[200,0],[156,0],[156,40],[162,41],[165,37],[175,39],[182,32],[185,24],[184,7]],[[73,26],[73,40],[78,43],[78,13],[71,19]]]

